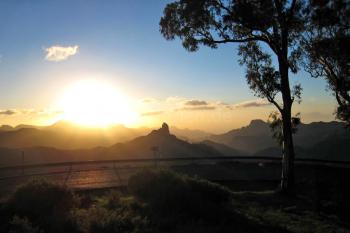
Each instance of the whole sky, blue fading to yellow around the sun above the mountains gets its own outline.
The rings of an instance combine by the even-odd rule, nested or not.
[[[165,121],[218,133],[267,120],[275,109],[248,88],[237,45],[190,53],[162,37],[167,2],[0,1],[0,125],[52,124],[71,108],[79,119],[82,113],[104,119],[109,110],[101,111],[101,103],[76,101],[92,101],[81,86],[69,96],[74,101],[60,104],[84,80],[103,83],[98,96],[105,86],[118,92],[116,99],[106,96],[106,108],[129,126]],[[303,87],[303,101],[294,106],[303,122],[334,120],[334,97],[323,80],[301,71],[291,83]]]

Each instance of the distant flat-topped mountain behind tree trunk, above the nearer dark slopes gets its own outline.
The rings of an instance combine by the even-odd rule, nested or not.
[[[294,135],[294,143],[296,147],[310,148],[332,137],[350,137],[350,131],[345,129],[345,124],[341,122],[302,123]],[[209,140],[252,154],[267,148],[278,147],[272,138],[268,123],[262,120],[253,120],[246,127],[221,135],[213,135]]]

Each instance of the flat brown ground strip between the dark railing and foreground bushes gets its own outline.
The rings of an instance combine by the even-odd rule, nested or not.
[[[11,189],[33,177],[44,177],[72,188],[125,186],[144,168],[170,168],[209,180],[268,180],[280,178],[281,158],[258,156],[173,157],[57,163],[17,164],[0,167],[0,189]],[[296,164],[349,167],[350,161],[296,159]]]

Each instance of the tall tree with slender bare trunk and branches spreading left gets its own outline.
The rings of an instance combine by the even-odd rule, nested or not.
[[[167,40],[180,38],[191,52],[200,45],[215,49],[219,44],[239,43],[249,87],[281,115],[284,193],[294,191],[292,105],[300,100],[301,87],[291,88],[289,71],[298,71],[297,41],[305,28],[303,8],[302,0],[178,0],[167,4],[160,20],[162,35]]]

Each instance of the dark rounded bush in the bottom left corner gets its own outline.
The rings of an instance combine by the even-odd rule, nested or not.
[[[45,231],[64,232],[67,214],[77,204],[68,188],[36,179],[19,186],[5,208],[10,216],[26,217]]]

